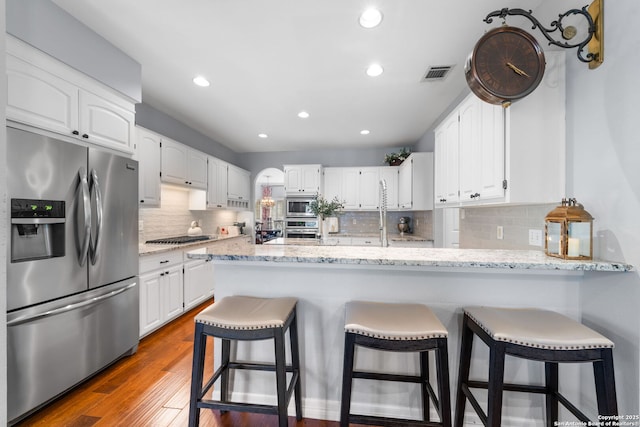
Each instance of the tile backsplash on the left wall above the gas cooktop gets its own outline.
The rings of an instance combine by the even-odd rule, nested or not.
[[[145,242],[186,235],[191,221],[199,222],[203,234],[216,234],[218,226],[232,225],[236,221],[237,213],[232,210],[190,211],[188,206],[188,190],[163,185],[162,207],[139,210],[138,219],[142,221],[143,230],[139,232],[138,240]]]

